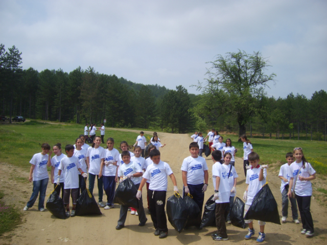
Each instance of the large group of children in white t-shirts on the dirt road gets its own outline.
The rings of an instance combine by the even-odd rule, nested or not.
[[[213,130],[214,131],[214,130]],[[197,133],[197,132],[196,132]],[[196,135],[196,134],[195,134]],[[193,137],[192,137],[193,136]],[[192,135],[195,142],[190,143],[190,156],[186,157],[181,165],[183,197],[191,194],[193,200],[199,206],[202,212],[204,202],[204,192],[208,185],[208,166],[205,159],[200,156],[201,143],[198,139],[202,137],[201,132],[197,136]],[[210,137],[210,136],[209,136]],[[228,240],[226,224],[231,223],[229,211],[233,206],[236,195],[236,185],[238,174],[235,169],[234,156],[237,152],[231,145],[231,140],[227,139],[224,144],[223,137],[219,136],[217,131],[212,136],[216,141],[212,145],[212,167],[213,185],[215,189],[214,200],[216,203],[216,226],[218,231],[212,235],[214,240]],[[246,169],[246,190],[243,199],[246,201],[244,216],[249,210],[255,194],[266,183],[268,165],[260,165],[260,157],[253,152],[251,142],[246,136],[241,137],[244,142],[244,167]],[[128,143],[122,141],[120,148],[122,153],[114,149],[114,139],[107,139],[106,149],[100,146],[101,137],[95,136],[91,146],[85,144],[85,136],[80,135],[76,139],[75,145],[65,146],[64,155],[61,151],[61,144],[53,146],[54,157],[51,158],[52,151],[50,145],[42,144],[42,152],[33,156],[30,163],[31,170],[29,181],[33,181],[33,192],[30,201],[24,208],[27,211],[35,203],[38,193],[38,209],[44,211],[44,198],[46,187],[48,186],[49,176],[47,166],[51,169],[51,182],[54,189],[60,194],[66,207],[66,216],[75,216],[75,205],[77,199],[83,190],[86,189],[86,180],[89,179],[88,189],[92,193],[95,180],[97,179],[99,190],[99,206],[104,209],[114,207],[113,198],[116,183],[122,183],[129,178],[136,186],[138,199],[138,209],[131,209],[131,214],[138,215],[138,226],[145,226],[147,222],[142,200],[142,189],[147,187],[148,212],[151,215],[154,235],[159,238],[168,236],[167,218],[165,213],[166,194],[168,188],[167,176],[169,176],[174,185],[174,192],[179,192],[176,178],[168,163],[161,161],[159,147],[165,145],[158,144],[159,139],[154,134],[151,139],[152,145],[148,147],[149,158],[144,159],[144,149],[147,141],[144,132],[141,132],[134,144],[133,153],[128,151]],[[155,144],[157,143],[157,144]],[[137,145],[136,145],[137,144]],[[203,144],[203,138],[202,138]],[[160,146],[158,146],[160,145]],[[246,154],[246,155],[245,155]],[[295,158],[295,161],[294,161]],[[292,205],[292,216],[296,224],[299,224],[296,202],[300,211],[302,220],[301,234],[308,237],[313,236],[313,220],[310,212],[310,201],[312,195],[311,180],[315,179],[315,170],[303,156],[301,148],[295,148],[293,153],[286,155],[287,163],[281,166],[279,178],[282,180],[282,222],[285,223],[288,216],[288,199]],[[247,167],[250,165],[250,167]],[[88,171],[88,175],[87,175]],[[107,202],[103,202],[103,190],[107,195]],[[72,197],[73,209],[69,210],[69,195]],[[117,230],[124,228],[125,220],[130,207],[121,205],[120,216],[118,219]],[[228,215],[226,215],[228,214]],[[227,219],[225,220],[225,216]],[[255,235],[253,229],[253,220],[245,220],[248,224],[248,233],[245,239],[250,239]],[[258,242],[265,240],[265,222],[259,220],[260,232],[256,239]]]

